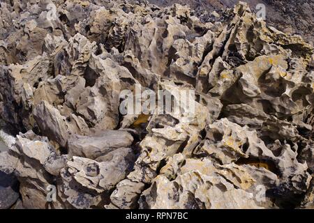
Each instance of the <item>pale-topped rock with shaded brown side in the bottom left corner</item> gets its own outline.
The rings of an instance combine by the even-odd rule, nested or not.
[[[17,135],[16,146],[10,152],[14,157],[22,157],[15,166],[15,173],[20,181],[23,206],[64,208],[65,205],[59,199],[51,203],[47,200],[50,192],[47,187],[54,185],[55,176],[59,176],[61,168],[66,164],[64,161],[59,162],[59,155],[47,137],[39,137],[31,131]],[[59,165],[52,166],[52,160],[56,160]]]

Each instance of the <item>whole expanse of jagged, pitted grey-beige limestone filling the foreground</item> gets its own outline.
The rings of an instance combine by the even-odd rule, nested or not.
[[[13,134],[0,208],[313,208],[314,49],[300,36],[246,3],[208,21],[147,1],[0,10]],[[193,101],[122,114],[121,92],[139,86]]]

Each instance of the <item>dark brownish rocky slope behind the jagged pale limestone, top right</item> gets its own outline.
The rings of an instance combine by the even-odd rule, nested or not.
[[[267,24],[285,33],[299,34],[314,44],[314,2],[312,0],[243,0],[251,10],[258,13],[265,6]],[[233,8],[239,0],[149,0],[158,6],[172,6],[174,3],[188,5],[202,21],[211,21],[223,16],[226,8]],[[214,19],[215,20],[215,19]]]

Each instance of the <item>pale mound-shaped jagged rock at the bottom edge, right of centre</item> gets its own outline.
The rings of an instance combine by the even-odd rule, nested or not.
[[[149,189],[142,193],[141,208],[259,208],[253,199],[253,194],[240,189],[239,184],[232,185],[232,175],[216,170],[209,160],[186,160],[177,177],[170,180],[163,175],[157,176]],[[218,172],[216,172],[218,171]],[[242,170],[243,171],[243,170]],[[251,176],[235,175],[233,180],[253,182]],[[239,188],[239,189],[237,189]],[[221,190],[223,192],[221,192]],[[223,196],[223,199],[220,197]],[[232,202],[225,202],[232,200]]]

